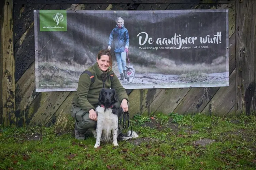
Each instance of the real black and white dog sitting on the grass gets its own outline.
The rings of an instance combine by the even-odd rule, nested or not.
[[[99,106],[96,107],[97,117],[97,128],[92,129],[96,143],[94,148],[100,146],[100,141],[113,141],[114,146],[118,146],[117,140],[128,140],[131,138],[137,138],[136,132],[128,131],[126,135],[122,134],[119,127],[118,118],[128,119],[129,113],[126,117],[122,108],[116,108],[115,103],[117,102],[117,95],[114,89],[101,89],[99,95]],[[121,121],[120,121],[121,122]],[[129,124],[127,125],[128,128]]]

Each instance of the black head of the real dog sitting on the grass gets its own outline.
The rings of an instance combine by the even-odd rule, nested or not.
[[[103,88],[100,90],[99,104],[105,108],[113,106],[117,102],[117,95],[115,89]]]

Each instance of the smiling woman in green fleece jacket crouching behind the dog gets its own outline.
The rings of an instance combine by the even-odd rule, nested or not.
[[[98,98],[102,88],[115,89],[118,97],[116,107],[122,107],[128,111],[129,99],[125,88],[122,86],[112,68],[112,55],[110,50],[101,50],[97,56],[97,62],[84,71],[79,78],[77,91],[74,94],[71,116],[75,122],[75,138],[85,139],[85,132],[90,128],[96,128]],[[91,81],[94,78],[94,82]]]

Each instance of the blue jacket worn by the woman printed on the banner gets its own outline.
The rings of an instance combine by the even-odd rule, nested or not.
[[[123,25],[121,28],[116,26],[110,33],[108,46],[111,46],[113,43],[114,52],[120,53],[124,52],[125,46],[129,47],[129,41],[128,30],[125,26]]]

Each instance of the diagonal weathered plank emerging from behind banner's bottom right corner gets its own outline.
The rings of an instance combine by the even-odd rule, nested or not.
[[[201,113],[224,116],[235,103],[236,70],[230,74],[228,87],[221,87]]]

